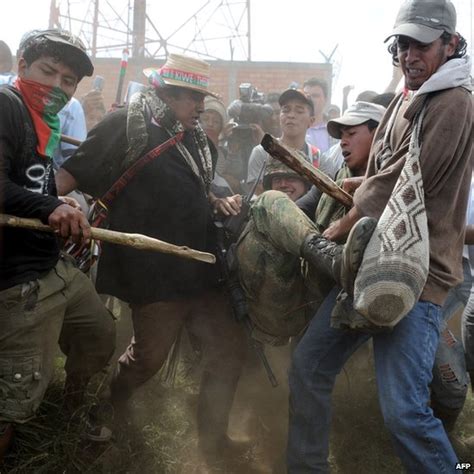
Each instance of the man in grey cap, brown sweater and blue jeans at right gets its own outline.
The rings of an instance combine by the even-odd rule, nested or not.
[[[323,238],[308,242],[313,265],[347,293],[343,246],[335,244],[360,222],[380,218],[405,163],[412,128],[423,109],[419,162],[429,234],[429,273],[420,299],[390,332],[351,332],[331,325],[331,314],[355,313],[350,296],[327,296],[296,348],[290,369],[288,471],[328,472],[331,394],[351,354],[371,336],[385,425],[407,472],[453,472],[457,456],[429,407],[429,383],[439,339],[441,306],[462,279],[461,255],[472,157],[471,65],[446,0],[402,4],[388,38],[405,77],[374,136],[367,172],[354,206]],[[408,190],[408,189],[407,189]],[[369,219],[369,221],[367,221]],[[361,235],[363,249],[371,229]],[[352,234],[351,234],[352,235]],[[362,259],[354,260],[353,271]],[[344,296],[343,294],[341,294]],[[342,309],[341,309],[342,308]],[[362,316],[360,316],[362,318]]]

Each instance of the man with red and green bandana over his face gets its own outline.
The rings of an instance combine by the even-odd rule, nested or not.
[[[58,242],[59,236],[90,239],[77,203],[57,197],[52,155],[60,139],[58,112],[92,72],[78,38],[35,31],[21,43],[15,83],[0,88],[2,212],[40,219],[56,231],[2,229],[0,458],[14,425],[35,415],[53,376],[58,342],[67,356],[65,395],[72,411],[114,350],[111,315]],[[96,428],[90,426],[91,439],[110,438],[110,431]]]

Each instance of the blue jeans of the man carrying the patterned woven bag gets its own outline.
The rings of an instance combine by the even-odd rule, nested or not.
[[[293,354],[290,369],[288,472],[328,472],[331,394],[336,376],[369,337],[330,327],[339,292],[324,300]],[[418,302],[390,333],[373,336],[379,402],[408,472],[453,472],[456,454],[429,408],[441,310]]]

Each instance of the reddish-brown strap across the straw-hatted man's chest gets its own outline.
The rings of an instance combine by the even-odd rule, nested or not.
[[[114,201],[114,199],[122,192],[122,190],[127,186],[127,184],[145,165],[158,158],[169,148],[181,142],[183,138],[184,132],[180,132],[150,150],[139,160],[135,161],[135,163],[130,166],[130,168],[128,168],[117,181],[115,181],[115,183],[109,188],[109,190],[100,199],[97,200],[96,204],[100,206],[100,209],[95,209],[97,217],[93,219],[93,225],[98,226],[105,219],[107,215],[107,210]]]

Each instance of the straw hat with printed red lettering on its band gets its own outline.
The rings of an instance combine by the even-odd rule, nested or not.
[[[162,67],[146,68],[143,73],[155,88],[165,85],[183,87],[219,98],[209,90],[210,70],[211,65],[202,59],[172,53]]]

